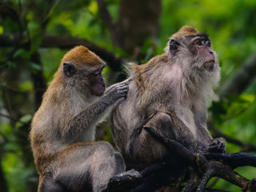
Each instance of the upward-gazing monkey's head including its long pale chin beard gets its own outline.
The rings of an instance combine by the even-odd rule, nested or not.
[[[184,26],[170,37],[165,53],[172,64],[177,64],[186,77],[198,83],[219,82],[219,63],[207,34],[192,26]]]

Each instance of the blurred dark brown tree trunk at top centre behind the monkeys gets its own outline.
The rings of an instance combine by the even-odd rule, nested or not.
[[[121,1],[118,28],[124,50],[134,53],[148,37],[158,35],[161,5],[161,0]]]

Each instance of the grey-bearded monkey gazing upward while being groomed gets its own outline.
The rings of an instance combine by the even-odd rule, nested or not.
[[[170,154],[143,127],[151,127],[194,153],[225,152],[213,139],[207,108],[218,85],[220,67],[211,40],[192,26],[170,37],[165,53],[146,64],[128,64],[127,99],[116,104],[110,130],[127,167],[141,170]]]

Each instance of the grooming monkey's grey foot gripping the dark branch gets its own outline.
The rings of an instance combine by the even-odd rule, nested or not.
[[[128,190],[132,185],[136,185],[136,183],[140,181],[141,177],[140,172],[135,169],[117,174],[108,182],[108,188],[106,191],[118,191],[120,188],[126,188]]]

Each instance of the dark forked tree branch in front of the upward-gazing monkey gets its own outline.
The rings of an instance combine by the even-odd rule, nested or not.
[[[240,174],[233,172],[233,169],[238,166],[256,166],[256,155],[248,153],[195,154],[175,140],[163,137],[153,128],[144,128],[152,135],[152,137],[165,145],[167,150],[172,154],[174,153],[178,161],[182,160],[189,163],[196,168],[195,170],[199,171],[199,174],[200,172],[203,172],[203,177],[201,177],[200,183],[197,186],[197,192],[203,191],[208,180],[214,176],[225,179],[234,185],[238,185],[243,191],[253,191],[256,188],[255,180],[249,181]],[[189,189],[187,188],[187,190]]]

